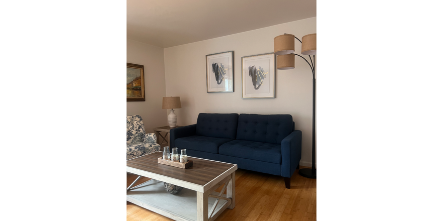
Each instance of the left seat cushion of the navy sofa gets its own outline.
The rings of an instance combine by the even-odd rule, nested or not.
[[[180,149],[198,150],[218,154],[218,147],[230,141],[232,141],[232,139],[194,135],[176,139],[174,141],[174,146]]]

